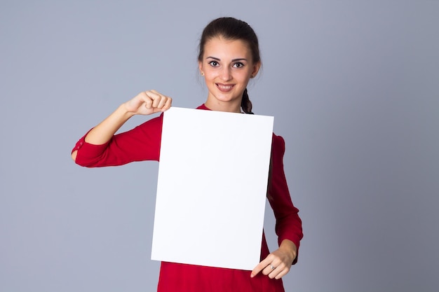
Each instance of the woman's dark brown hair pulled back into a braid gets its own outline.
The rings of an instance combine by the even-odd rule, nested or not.
[[[247,22],[237,20],[236,18],[217,18],[216,20],[212,20],[212,22],[204,28],[199,44],[199,62],[203,62],[205,43],[216,37],[222,37],[231,41],[244,41],[252,53],[252,62],[254,64],[261,62],[259,41],[257,40],[255,31]],[[245,88],[243,92],[241,109],[243,109],[245,113],[252,113],[252,102],[250,102],[250,98],[248,97],[247,88]]]

